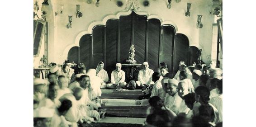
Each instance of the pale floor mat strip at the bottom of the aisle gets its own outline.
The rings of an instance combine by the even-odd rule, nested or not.
[[[145,118],[119,118],[119,117],[106,117],[98,122],[104,123],[130,123],[130,124],[143,124]]]

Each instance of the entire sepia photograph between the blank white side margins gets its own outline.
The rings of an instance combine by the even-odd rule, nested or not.
[[[223,0],[33,0],[33,127],[223,127],[223,21]]]

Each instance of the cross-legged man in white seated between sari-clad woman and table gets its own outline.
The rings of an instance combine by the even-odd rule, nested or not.
[[[121,70],[122,65],[120,63],[116,64],[116,69],[111,73],[111,83],[107,84],[110,89],[122,88],[127,85],[125,80],[125,72]]]

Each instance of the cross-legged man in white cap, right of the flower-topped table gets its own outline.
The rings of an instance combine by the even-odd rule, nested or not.
[[[152,81],[152,75],[154,71],[152,69],[149,69],[149,65],[147,62],[142,63],[142,70],[138,73],[138,80],[136,81],[136,84],[138,87],[146,88],[150,84],[154,84]]]

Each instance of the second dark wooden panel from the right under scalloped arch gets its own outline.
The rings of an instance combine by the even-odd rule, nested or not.
[[[173,61],[173,70],[176,73],[179,70],[179,62],[185,61],[186,65],[189,65],[189,39],[182,33],[177,33],[175,35],[174,41],[174,61]]]

